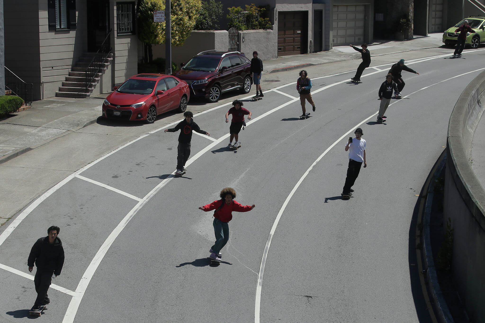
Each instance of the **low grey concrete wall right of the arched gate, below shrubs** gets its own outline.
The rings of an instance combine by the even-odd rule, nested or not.
[[[272,30],[239,31],[240,50],[248,59],[253,58],[253,51],[265,61],[278,57],[278,34]]]

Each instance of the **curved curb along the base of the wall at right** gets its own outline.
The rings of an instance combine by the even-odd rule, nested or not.
[[[438,174],[446,165],[446,150],[439,156],[441,162],[437,167],[431,183],[428,186],[426,204],[423,214],[423,232],[422,232],[422,252],[423,252],[423,274],[426,277],[426,288],[432,298],[433,308],[435,309],[436,318],[441,323],[454,323],[453,317],[450,313],[448,305],[443,297],[441,288],[439,287],[438,277],[436,275],[435,261],[433,260],[433,253],[431,251],[431,237],[430,237],[430,217],[433,205],[435,183]],[[439,160],[439,159],[438,159]]]

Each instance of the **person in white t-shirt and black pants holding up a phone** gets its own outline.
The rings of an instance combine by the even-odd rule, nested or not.
[[[357,176],[359,176],[360,167],[364,163],[364,168],[367,167],[365,161],[365,140],[361,137],[364,135],[361,128],[357,128],[354,132],[356,138],[349,138],[345,151],[349,152],[349,168],[347,169],[347,178],[345,179],[345,185],[343,185],[342,195],[351,196],[354,190],[352,186],[356,182]]]

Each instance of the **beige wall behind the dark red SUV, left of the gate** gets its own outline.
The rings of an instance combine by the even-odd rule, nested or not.
[[[225,52],[227,48],[229,48],[227,31],[192,31],[182,46],[172,46],[172,62],[180,67],[180,63],[188,62],[204,50],[215,49]],[[153,59],[165,58],[165,44],[153,45],[152,51]]]

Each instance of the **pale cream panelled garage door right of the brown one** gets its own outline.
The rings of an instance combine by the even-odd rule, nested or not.
[[[364,5],[334,5],[332,46],[364,42]]]

